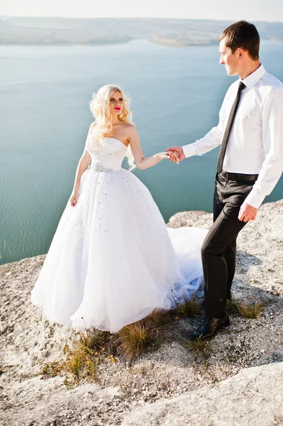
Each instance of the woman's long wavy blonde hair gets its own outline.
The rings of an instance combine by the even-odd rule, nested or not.
[[[116,84],[106,84],[102,86],[98,92],[92,95],[92,100],[89,102],[91,114],[96,119],[96,127],[91,134],[91,138],[94,149],[97,151],[101,151],[99,146],[101,138],[109,138],[113,135],[112,116],[110,112],[110,98],[113,92],[120,92],[124,102],[121,114],[118,114],[118,120],[122,123],[133,124],[130,99],[124,96],[122,88],[118,87]],[[128,165],[130,166],[129,170],[131,171],[135,168],[135,160],[130,145],[128,146],[126,157],[128,159]]]

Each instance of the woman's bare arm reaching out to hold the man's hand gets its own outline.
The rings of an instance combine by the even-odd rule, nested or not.
[[[144,170],[146,168],[152,167],[152,165],[155,165],[159,163],[164,158],[170,158],[174,157],[174,153],[156,153],[155,155],[152,155],[151,157],[145,158],[145,155],[143,155],[143,151],[140,148],[140,141],[138,138],[138,132],[137,129],[135,129],[135,126],[129,126],[129,137],[128,140],[130,141],[131,150],[133,153],[133,158],[135,159],[135,164],[138,166],[140,170]],[[171,155],[168,155],[171,154]],[[176,161],[177,162],[177,161]]]

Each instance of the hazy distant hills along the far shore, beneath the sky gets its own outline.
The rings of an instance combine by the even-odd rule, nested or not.
[[[232,21],[166,18],[0,18],[0,44],[112,44],[147,39],[162,45],[213,45]],[[255,22],[262,40],[283,41],[282,22]]]

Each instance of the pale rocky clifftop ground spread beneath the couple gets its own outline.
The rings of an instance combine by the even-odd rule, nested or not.
[[[211,222],[211,214],[181,212],[168,226],[209,227]],[[30,290],[44,259],[40,255],[0,266],[0,425],[121,425],[137,418],[137,410],[140,416],[150,415],[155,404],[156,413],[162,413],[164,406],[167,421],[170,410],[173,419],[181,413],[181,405],[184,410],[190,406],[179,403],[182,398],[192,398],[198,413],[204,407],[206,415],[195,426],[253,425],[253,413],[257,426],[283,425],[277,405],[277,396],[283,399],[283,200],[263,204],[255,222],[247,224],[238,238],[233,295],[239,302],[258,301],[267,306],[256,320],[232,316],[231,327],[211,341],[205,361],[196,359],[181,338],[202,319],[180,318],[166,329],[161,327],[158,351],[143,355],[131,366],[123,356],[116,356],[115,363],[106,360],[98,367],[96,382],[86,380],[67,390],[64,376],[44,378],[39,374],[43,364],[62,359],[62,348],[72,346],[77,336],[46,320],[30,303]],[[201,288],[197,295],[203,295]],[[217,417],[218,392],[231,395],[225,413],[234,417]],[[216,404],[211,412],[204,398]],[[171,404],[171,400],[176,402]],[[127,417],[131,412],[135,417]],[[178,425],[186,425],[182,415]],[[228,418],[235,421],[229,423]],[[152,417],[152,425],[157,420]],[[162,417],[158,421],[165,425]],[[174,425],[170,421],[167,424]],[[150,423],[143,421],[143,425]]]

